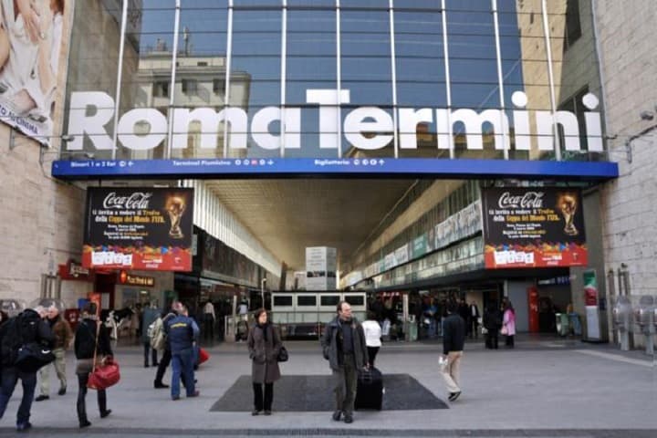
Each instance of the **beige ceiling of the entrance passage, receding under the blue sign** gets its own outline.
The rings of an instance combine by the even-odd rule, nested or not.
[[[338,263],[370,235],[414,180],[214,180],[208,187],[290,269],[307,246],[338,249]]]

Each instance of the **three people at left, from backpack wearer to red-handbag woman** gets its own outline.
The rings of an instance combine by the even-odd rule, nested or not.
[[[30,343],[36,343],[44,349],[51,349],[55,355],[54,366],[60,386],[57,393],[67,392],[66,350],[72,340],[68,321],[59,314],[56,306],[44,308],[36,306],[27,308],[14,318],[2,321],[0,326],[0,356],[2,364],[2,388],[0,388],[0,418],[5,414],[7,403],[20,380],[23,386],[23,398],[16,414],[16,430],[26,431],[32,427],[29,422],[32,401],[36,391],[36,370],[25,370],[16,364],[18,350]],[[104,324],[97,317],[95,303],[88,303],[82,308],[81,320],[75,334],[73,345],[77,359],[76,374],[78,376],[78,400],[76,409],[80,428],[91,425],[87,416],[86,396],[89,373],[94,369],[94,360],[107,360],[112,357],[110,335]],[[49,368],[39,370],[41,393],[36,401],[49,399]],[[107,394],[98,391],[100,418],[110,415],[107,408]]]

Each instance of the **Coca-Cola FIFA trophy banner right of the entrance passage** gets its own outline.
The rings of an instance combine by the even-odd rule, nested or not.
[[[486,268],[586,266],[579,189],[482,190]]]

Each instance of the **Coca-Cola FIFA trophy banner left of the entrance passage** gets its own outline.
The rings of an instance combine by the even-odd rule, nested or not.
[[[192,270],[193,189],[91,187],[82,266]]]

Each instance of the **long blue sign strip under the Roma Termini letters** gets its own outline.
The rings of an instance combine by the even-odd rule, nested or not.
[[[444,160],[413,158],[238,158],[181,160],[83,160],[53,162],[62,180],[98,178],[220,179],[369,177],[443,179],[609,180],[619,176],[615,162]]]

